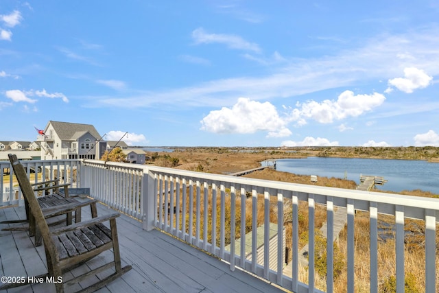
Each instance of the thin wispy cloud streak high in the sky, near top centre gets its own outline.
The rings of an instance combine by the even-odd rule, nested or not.
[[[195,44],[219,43],[226,45],[230,49],[254,51],[257,53],[261,51],[259,45],[250,43],[240,36],[234,34],[208,34],[202,29],[202,27],[193,30],[192,38],[195,40]]]

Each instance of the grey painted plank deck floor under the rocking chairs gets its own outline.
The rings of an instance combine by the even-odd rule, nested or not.
[[[98,204],[98,215],[106,212],[108,209]],[[0,221],[19,220],[24,216],[24,207],[0,209]],[[90,212],[83,209],[82,218],[90,218]],[[0,228],[7,226],[0,224]],[[98,292],[284,292],[245,272],[231,272],[224,261],[161,231],[144,231],[140,222],[126,215],[117,219],[117,230],[122,266],[129,263],[132,270]],[[27,278],[47,272],[44,247],[35,248],[33,243],[34,238],[29,237],[27,231],[0,231],[0,275]],[[112,254],[108,252],[95,257],[65,274],[64,281],[71,273],[88,270],[86,266],[101,265],[106,257],[112,259]],[[84,281],[69,289],[75,292],[87,285]],[[8,293],[55,292],[54,287],[47,283],[25,285],[8,290]]]

